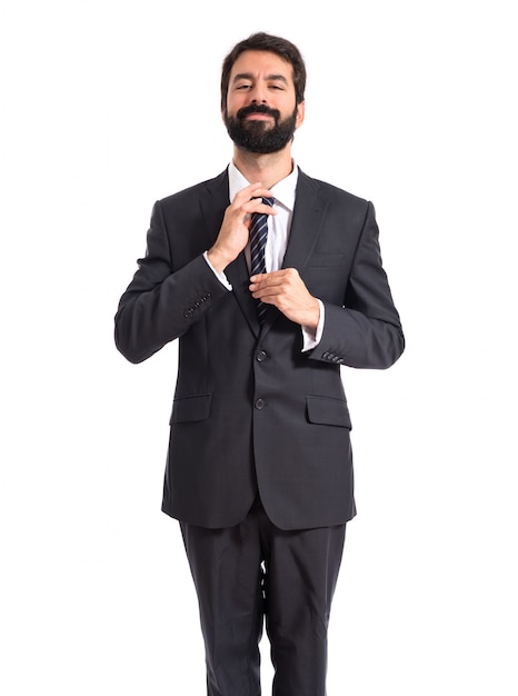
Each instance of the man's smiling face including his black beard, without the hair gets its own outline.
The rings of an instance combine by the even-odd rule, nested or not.
[[[282,150],[303,121],[303,103],[296,105],[291,64],[269,51],[243,51],[230,72],[222,116],[241,150]]]

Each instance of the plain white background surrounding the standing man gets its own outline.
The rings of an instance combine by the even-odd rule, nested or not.
[[[266,30],[307,61],[298,163],[376,206],[408,342],[343,371],[329,696],[516,696],[514,4],[1,3],[2,694],[205,693],[160,513],[176,347],[132,366],[112,319],[155,200],[229,161],[221,61]]]

